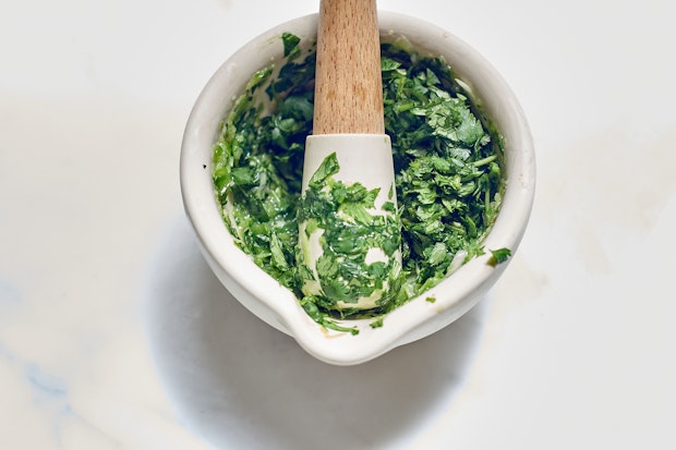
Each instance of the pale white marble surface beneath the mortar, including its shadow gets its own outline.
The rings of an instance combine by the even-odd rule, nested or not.
[[[676,448],[673,2],[379,1],[494,62],[539,191],[478,308],[357,367],[237,304],[178,188],[210,73],[317,4],[0,5],[0,449]]]

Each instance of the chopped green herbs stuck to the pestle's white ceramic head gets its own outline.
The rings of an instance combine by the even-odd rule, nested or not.
[[[346,185],[333,178],[339,169],[336,154],[328,155],[300,198],[298,220],[311,223],[322,246],[316,264],[305,260],[304,246],[313,233],[301,236],[298,263],[316,267],[316,273],[306,271],[311,276],[302,280],[301,290],[329,311],[383,311],[402,281],[395,255],[401,242],[400,226],[391,212],[376,208],[377,188]],[[367,263],[374,250],[383,257]]]

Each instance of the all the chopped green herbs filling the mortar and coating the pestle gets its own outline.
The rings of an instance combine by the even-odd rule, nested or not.
[[[305,137],[312,134],[315,52],[311,47],[303,53],[292,34],[283,34],[281,41],[286,62],[278,70],[270,65],[256,72],[225,120],[214,146],[215,193],[237,245],[293,292],[315,321],[355,333],[336,318],[365,313],[349,307],[337,311],[336,299],[349,304],[371,288],[353,277],[350,265],[324,258],[317,262],[324,295],[305,295],[302,288],[314,273],[298,250],[298,221],[305,208],[324,211],[326,217],[351,218],[345,229],[313,220],[305,227],[307,233],[319,228],[330,231],[335,252],[351,256],[361,242],[374,242],[375,236],[365,236],[374,220],[384,219],[367,211],[373,192],[333,179],[337,161],[327,161],[313,178],[317,187],[331,184],[330,198],[317,190],[301,202]],[[382,248],[389,254],[400,239],[402,268],[394,295],[365,314],[374,318],[372,326],[444,280],[458,253],[466,255],[464,262],[484,253],[483,241],[504,191],[502,137],[449,64],[443,58],[415,53],[406,39],[383,44],[382,56],[385,124],[399,205],[384,208],[401,221],[401,232],[393,230],[390,245]],[[494,264],[509,257],[508,250],[492,253]],[[373,277],[387,272],[383,262],[367,270],[361,260],[355,266]]]

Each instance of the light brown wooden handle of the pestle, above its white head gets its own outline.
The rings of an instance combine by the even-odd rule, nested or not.
[[[322,0],[313,134],[385,134],[376,0]]]

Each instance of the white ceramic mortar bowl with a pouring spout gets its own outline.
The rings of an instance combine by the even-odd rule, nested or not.
[[[514,93],[481,54],[452,34],[406,15],[381,11],[378,17],[383,39],[402,35],[423,54],[444,56],[504,136],[507,187],[485,247],[507,247],[514,254],[526,231],[535,188],[532,137]],[[369,320],[349,320],[349,326],[357,325],[360,329],[359,335],[352,336],[326,330],[313,321],[289,290],[236,246],[221,219],[212,184],[213,148],[221,122],[253,73],[283,60],[281,34],[290,32],[302,42],[313,41],[316,26],[316,14],[280,24],[238,50],[213,75],[185,127],[181,190],[203,254],[232,295],[261,319],[293,337],[315,357],[330,364],[352,365],[424,338],[457,320],[493,287],[509,260],[493,267],[487,264],[490,253],[476,257],[420,297],[391,312],[381,328],[371,328]],[[425,301],[430,296],[436,301]]]

